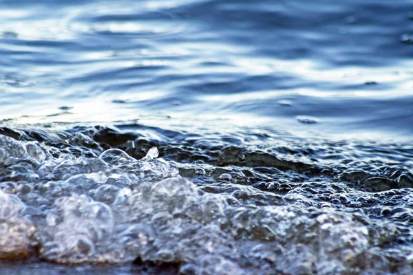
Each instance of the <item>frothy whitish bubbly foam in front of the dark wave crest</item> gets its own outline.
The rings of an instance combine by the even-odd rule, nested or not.
[[[135,159],[119,149],[103,151],[87,136],[72,139],[96,151],[0,135],[1,259],[20,259],[39,248],[37,256],[45,261],[141,259],[176,263],[182,274],[346,274],[392,268],[377,248],[398,234],[395,228],[374,227],[368,217],[332,203],[318,207],[304,187],[277,195],[242,185],[247,181],[240,170],[180,164],[184,173],[213,181],[197,186],[180,177],[176,164],[157,158],[156,148]],[[347,204],[354,201],[346,198]],[[377,255],[385,259],[379,267],[360,261],[374,261]]]

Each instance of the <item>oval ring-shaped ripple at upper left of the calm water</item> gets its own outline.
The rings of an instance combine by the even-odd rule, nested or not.
[[[159,38],[174,36],[183,31],[180,17],[170,11],[147,10],[141,6],[100,5],[87,12],[75,14],[67,29],[79,34],[122,36],[130,38]]]

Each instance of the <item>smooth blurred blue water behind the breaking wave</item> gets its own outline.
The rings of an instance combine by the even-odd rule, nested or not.
[[[2,0],[0,12],[3,119],[413,131],[410,0]]]

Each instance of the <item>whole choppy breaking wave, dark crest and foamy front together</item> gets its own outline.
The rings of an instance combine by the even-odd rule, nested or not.
[[[1,258],[413,272],[411,146],[118,127],[1,129]]]

